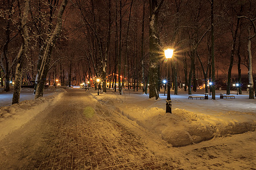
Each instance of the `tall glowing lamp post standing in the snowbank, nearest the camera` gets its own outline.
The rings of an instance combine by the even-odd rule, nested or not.
[[[170,67],[171,67],[171,58],[174,54],[173,48],[166,48],[164,49],[164,56],[166,56],[167,59],[167,65],[168,65],[168,84],[167,84],[167,99],[166,99],[166,113],[172,113],[172,101],[171,101],[171,92],[170,92]]]

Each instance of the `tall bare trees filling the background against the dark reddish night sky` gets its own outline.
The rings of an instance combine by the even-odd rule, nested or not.
[[[72,79],[81,83],[101,78],[104,92],[109,81],[119,94],[125,82],[134,90],[142,83],[146,93],[150,84],[149,97],[158,99],[161,79],[167,76],[166,46],[175,48],[169,81],[175,94],[178,82],[188,87],[188,94],[196,91],[198,70],[205,84],[215,82],[216,72],[222,71],[230,94],[232,68],[237,64],[239,83],[241,66],[247,68],[249,98],[254,98],[251,44],[255,44],[256,2],[252,0],[1,3],[0,76],[5,91],[10,91],[10,80],[15,81],[13,103],[19,102],[22,77],[28,74],[35,80],[35,97],[43,96],[44,84],[53,76],[62,85],[68,79],[69,86]]]

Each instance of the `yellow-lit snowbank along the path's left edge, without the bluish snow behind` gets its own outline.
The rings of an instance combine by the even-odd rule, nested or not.
[[[19,104],[0,107],[0,140],[5,135],[26,124],[32,117],[44,111],[49,105],[55,104],[61,98],[63,92],[64,90],[62,89],[56,89],[50,96],[39,97],[34,100],[24,100]]]

